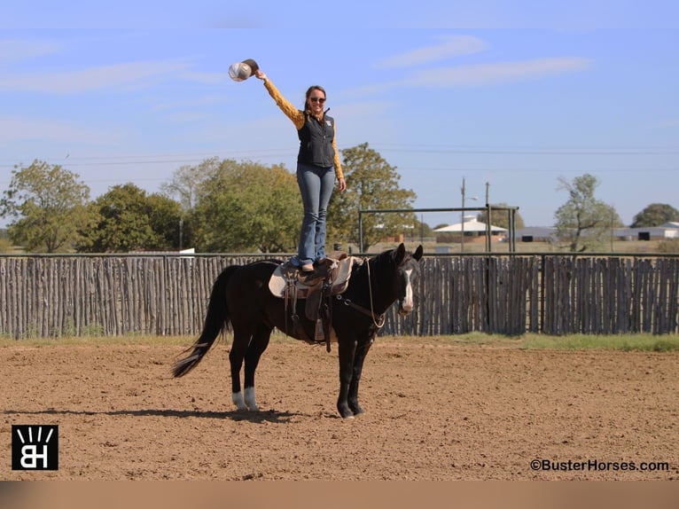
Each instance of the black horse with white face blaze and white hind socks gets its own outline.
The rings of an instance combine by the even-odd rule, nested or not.
[[[332,298],[331,330],[339,348],[337,409],[343,418],[363,413],[358,404],[363,360],[384,323],[386,310],[394,301],[399,301],[400,315],[407,315],[413,309],[421,258],[422,246],[410,254],[401,244],[365,261],[354,262],[347,290]],[[296,339],[314,338],[316,333],[316,323],[305,317],[303,302],[298,302],[299,324],[295,333],[290,325],[291,309],[286,309],[285,299],[269,291],[269,278],[279,263],[253,262],[232,265],[222,271],[212,288],[203,331],[189,348],[191,354],[176,362],[174,376],[190,372],[230,322],[233,403],[238,410],[259,410],[254,398],[254,371],[269,345],[271,331],[277,327]],[[240,368],[244,359],[245,391],[241,392]]]

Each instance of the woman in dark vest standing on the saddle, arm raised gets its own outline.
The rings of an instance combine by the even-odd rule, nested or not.
[[[264,82],[269,95],[293,121],[300,138],[297,184],[300,186],[304,218],[300,246],[291,262],[303,273],[311,273],[314,271],[313,263],[325,257],[326,214],[335,177],[339,180],[339,191],[347,189],[335,141],[335,121],[327,115],[328,110],[324,110],[326,97],[323,87],[309,87],[304,109],[299,110],[281,95],[261,69],[257,69],[254,75]]]

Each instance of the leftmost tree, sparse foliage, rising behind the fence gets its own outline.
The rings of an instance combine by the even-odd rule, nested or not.
[[[0,200],[0,216],[16,219],[7,234],[29,252],[59,253],[72,249],[85,213],[90,188],[80,176],[59,165],[35,160],[12,170],[12,181]]]

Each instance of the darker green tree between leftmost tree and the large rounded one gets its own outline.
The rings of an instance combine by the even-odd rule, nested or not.
[[[148,196],[135,184],[114,185],[90,205],[92,227],[82,231],[78,250],[122,253],[178,247],[181,209],[165,196]]]

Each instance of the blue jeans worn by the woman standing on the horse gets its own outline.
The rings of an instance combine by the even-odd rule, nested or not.
[[[306,265],[325,257],[325,216],[335,185],[334,168],[297,164],[304,218],[301,222],[300,246],[293,264]]]

